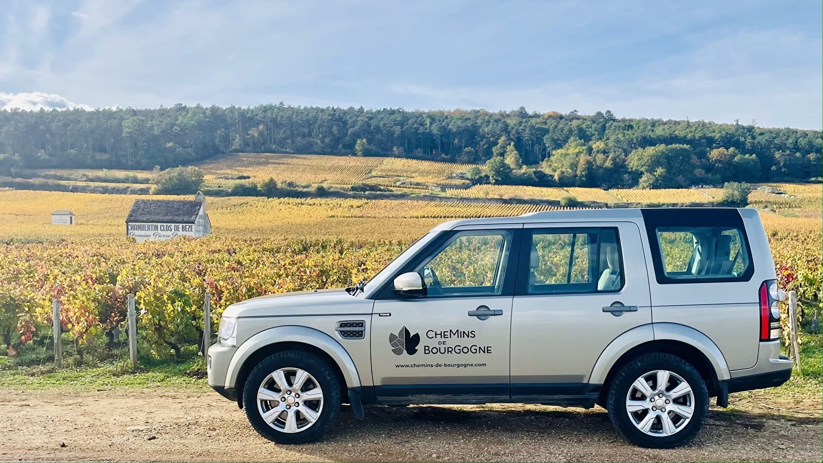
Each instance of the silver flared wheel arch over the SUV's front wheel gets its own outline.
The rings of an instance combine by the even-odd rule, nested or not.
[[[226,372],[226,386],[233,385],[238,391],[238,403],[242,406],[243,388],[252,369],[263,358],[284,350],[304,350],[318,355],[335,370],[345,399],[348,388],[360,387],[360,375],[346,349],[328,334],[306,326],[276,326],[254,334],[240,345],[231,358]]]

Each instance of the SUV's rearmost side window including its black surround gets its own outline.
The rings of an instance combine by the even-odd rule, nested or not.
[[[748,281],[754,273],[737,209],[644,209],[658,283]]]

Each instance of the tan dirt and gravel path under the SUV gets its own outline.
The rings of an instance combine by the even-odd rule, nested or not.
[[[205,390],[0,390],[0,461],[821,461],[820,401],[765,401],[713,408],[668,451],[625,444],[602,409],[533,405],[344,412],[322,442],[279,446]]]

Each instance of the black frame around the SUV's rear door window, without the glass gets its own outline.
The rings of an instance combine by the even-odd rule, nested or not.
[[[621,284],[619,288],[610,289],[610,290],[597,290],[597,281],[594,281],[594,278],[599,278],[599,275],[602,274],[600,271],[600,245],[602,243],[602,231],[603,230],[612,230],[615,233],[615,241],[617,246],[617,254],[620,259],[620,266],[621,266]],[[564,233],[585,233],[585,234],[594,234],[597,237],[597,246],[595,250],[595,256],[597,258],[596,268],[594,270],[594,274],[592,275],[592,255],[591,250],[589,250],[589,276],[593,278],[591,283],[594,284],[593,290],[588,291],[558,291],[558,292],[529,292],[528,291],[528,262],[531,260],[530,255],[532,252],[532,239],[535,234],[537,235],[560,235]],[[591,227],[529,227],[523,229],[523,237],[520,240],[520,252],[519,252],[519,262],[518,262],[518,269],[517,269],[517,282],[514,288],[514,296],[561,296],[561,295],[573,295],[573,294],[608,294],[613,292],[621,292],[623,288],[625,288],[625,264],[623,262],[623,246],[621,245],[621,237],[620,237],[620,229],[616,226],[604,226],[598,227],[597,224],[593,224]],[[574,283],[557,283],[557,284],[574,284]]]

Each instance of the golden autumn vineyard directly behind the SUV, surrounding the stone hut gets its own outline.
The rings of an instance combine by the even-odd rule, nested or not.
[[[197,339],[191,320],[202,317],[206,291],[216,321],[228,304],[248,297],[370,276],[449,218],[551,209],[459,200],[209,198],[213,236],[135,243],[123,235],[136,198],[0,191],[0,331],[15,334],[14,342],[48,333],[56,296],[66,330],[78,339],[98,336],[123,320],[133,292],[148,341],[156,353],[168,353],[165,340]],[[49,214],[63,208],[77,214],[77,225],[50,225]],[[784,287],[820,301],[820,220],[761,216]]]

